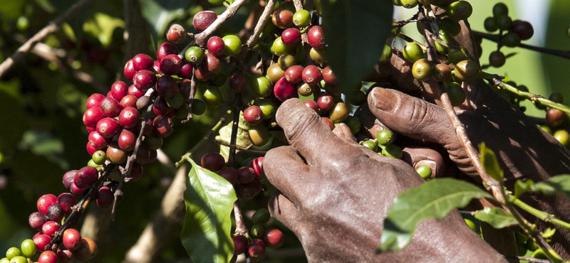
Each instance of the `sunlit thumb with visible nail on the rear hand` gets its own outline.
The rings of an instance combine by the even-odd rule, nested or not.
[[[459,141],[445,109],[396,90],[376,87],[368,96],[372,114],[398,134],[458,149]]]

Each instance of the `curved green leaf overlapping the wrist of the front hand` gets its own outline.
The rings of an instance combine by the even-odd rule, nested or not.
[[[384,221],[380,251],[399,251],[412,240],[415,227],[430,218],[442,219],[472,199],[492,198],[481,188],[453,178],[427,181],[396,196]]]

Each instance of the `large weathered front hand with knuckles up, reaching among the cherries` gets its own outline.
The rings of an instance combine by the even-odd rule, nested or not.
[[[276,120],[291,146],[264,159],[281,191],[269,207],[299,237],[309,262],[504,262],[457,211],[421,223],[402,252],[375,254],[393,198],[423,180],[405,162],[336,136],[346,132],[331,132],[299,100],[281,104]]]

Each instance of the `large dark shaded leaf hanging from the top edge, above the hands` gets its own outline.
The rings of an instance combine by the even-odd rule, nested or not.
[[[378,63],[392,29],[390,0],[322,0],[328,63],[343,93],[352,94]]]

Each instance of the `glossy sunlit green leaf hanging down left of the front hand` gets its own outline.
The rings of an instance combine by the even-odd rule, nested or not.
[[[180,238],[196,263],[229,262],[234,255],[230,214],[237,200],[234,187],[192,159],[184,200],[186,216]]]

